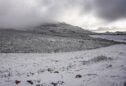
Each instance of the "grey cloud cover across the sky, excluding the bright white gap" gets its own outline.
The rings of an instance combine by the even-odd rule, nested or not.
[[[109,21],[126,17],[126,0],[0,0],[0,27],[57,22],[74,8]]]

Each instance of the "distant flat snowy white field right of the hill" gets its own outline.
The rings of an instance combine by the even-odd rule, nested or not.
[[[126,35],[90,35],[94,38],[102,38],[126,43]]]

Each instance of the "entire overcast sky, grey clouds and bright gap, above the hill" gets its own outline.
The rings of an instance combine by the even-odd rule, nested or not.
[[[86,29],[126,31],[126,0],[0,0],[0,27],[66,22]]]

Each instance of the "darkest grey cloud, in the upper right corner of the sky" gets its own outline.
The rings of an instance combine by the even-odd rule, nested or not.
[[[95,0],[94,10],[99,17],[116,20],[126,17],[126,0]]]

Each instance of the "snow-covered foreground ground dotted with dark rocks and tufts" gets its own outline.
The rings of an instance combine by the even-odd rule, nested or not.
[[[0,86],[126,86],[126,45],[57,54],[0,54]]]

